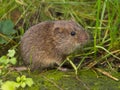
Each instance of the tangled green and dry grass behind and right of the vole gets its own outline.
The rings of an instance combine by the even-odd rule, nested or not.
[[[97,63],[107,60],[110,67],[113,66],[109,59],[120,60],[119,0],[10,0],[9,3],[1,0],[0,20],[6,19],[12,20],[18,31],[13,39],[16,43],[19,43],[20,37],[34,24],[46,20],[74,19],[91,32],[93,37],[93,44],[75,56],[90,57],[92,61],[99,59]],[[12,42],[7,44],[10,47],[15,45]],[[5,47],[0,46],[1,49]],[[73,67],[75,68],[74,65]]]

